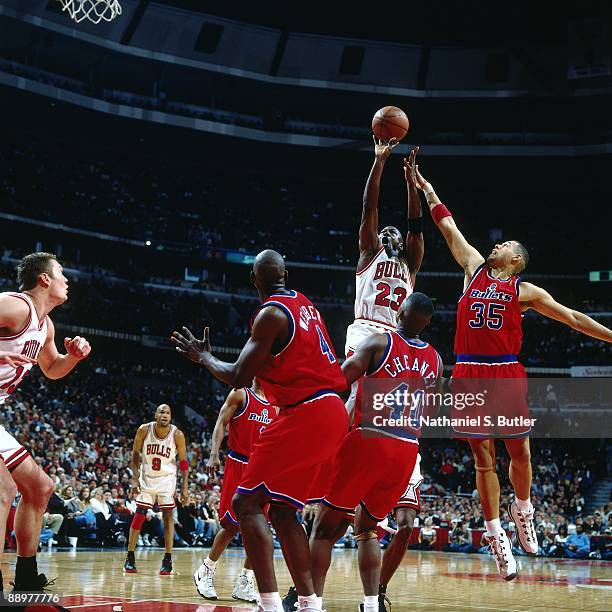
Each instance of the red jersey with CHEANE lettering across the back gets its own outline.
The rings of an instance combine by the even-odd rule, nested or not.
[[[421,340],[404,338],[399,332],[387,332],[387,349],[380,364],[376,369],[366,374],[359,380],[357,397],[355,400],[355,420],[358,429],[367,429],[384,433],[394,438],[407,440],[417,440],[421,429],[421,416],[423,414],[424,402],[419,398],[420,393],[424,393],[429,387],[435,385],[438,378],[442,375],[442,360],[438,351]],[[370,399],[372,394],[366,390],[364,392],[364,382],[373,379],[394,380],[397,385],[377,389],[383,393],[394,393],[396,390],[406,391],[410,394],[411,402],[404,401],[398,403],[385,402],[382,407],[377,407]],[[372,387],[370,387],[370,390]],[[363,399],[368,400],[366,411],[363,411]],[[368,397],[369,396],[369,397]],[[378,425],[373,418],[382,416],[388,419],[403,420],[402,425]]]

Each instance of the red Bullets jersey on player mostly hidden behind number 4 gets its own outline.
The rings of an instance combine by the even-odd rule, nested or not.
[[[236,411],[229,422],[227,446],[230,455],[238,460],[248,460],[257,442],[259,434],[276,416],[276,408],[265,399],[256,395],[251,389],[245,388],[244,407]]]

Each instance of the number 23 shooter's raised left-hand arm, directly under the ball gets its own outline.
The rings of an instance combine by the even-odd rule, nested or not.
[[[374,136],[374,163],[366,181],[363,192],[363,210],[361,212],[361,225],[359,226],[359,264],[360,270],[366,266],[376,251],[380,248],[378,237],[378,195],[380,193],[380,177],[385,162],[393,147],[397,145],[395,138],[388,144],[378,142]]]

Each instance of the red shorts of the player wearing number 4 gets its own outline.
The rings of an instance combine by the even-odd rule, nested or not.
[[[347,430],[346,408],[335,393],[282,409],[254,445],[237,492],[265,491],[275,501],[303,508],[319,468],[329,467]]]

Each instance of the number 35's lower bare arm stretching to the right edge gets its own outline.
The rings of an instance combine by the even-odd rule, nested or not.
[[[559,304],[548,291],[532,283],[521,283],[519,302],[526,309],[532,308],[545,317],[565,323],[587,336],[612,342],[612,330],[582,312]]]

